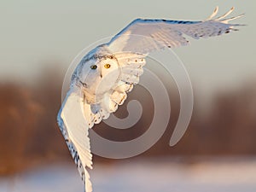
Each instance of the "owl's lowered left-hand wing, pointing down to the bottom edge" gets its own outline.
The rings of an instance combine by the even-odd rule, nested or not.
[[[57,120],[84,182],[85,191],[91,192],[90,175],[86,168],[92,168],[92,154],[90,154],[90,139],[88,137],[89,126],[84,118],[83,99],[79,88],[72,87],[62,103]]]

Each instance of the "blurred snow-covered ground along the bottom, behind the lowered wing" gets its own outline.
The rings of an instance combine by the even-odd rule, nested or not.
[[[256,160],[213,160],[191,165],[168,160],[94,165],[95,192],[255,192]],[[1,192],[83,192],[74,165],[45,166],[1,178]]]

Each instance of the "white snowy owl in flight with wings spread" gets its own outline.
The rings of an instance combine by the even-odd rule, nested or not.
[[[58,113],[58,125],[72,154],[86,192],[91,192],[92,168],[88,131],[125,102],[127,93],[143,73],[145,57],[160,49],[187,45],[191,38],[208,38],[237,31],[229,24],[242,15],[226,18],[233,11],[215,18],[218,7],[207,20],[133,20],[108,44],[90,50],[73,72],[70,90]]]

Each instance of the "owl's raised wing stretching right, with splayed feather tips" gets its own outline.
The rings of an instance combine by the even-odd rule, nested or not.
[[[242,15],[226,18],[234,10],[230,9],[226,14],[213,19],[218,13],[218,7],[207,20],[184,21],[184,20],[133,20],[121,32],[113,37],[107,44],[113,52],[131,51],[148,54],[151,51],[165,48],[173,48],[187,45],[189,41],[183,37],[208,38],[218,36],[230,31],[236,31],[229,24],[230,20],[240,18]]]

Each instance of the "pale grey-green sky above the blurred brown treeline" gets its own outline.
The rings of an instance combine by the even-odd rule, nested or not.
[[[0,6],[0,80],[33,82],[45,68],[65,73],[85,47],[115,35],[136,18],[204,20],[219,6],[245,13],[239,32],[192,40],[174,49],[202,92],[244,84],[256,73],[255,1],[10,0]],[[64,78],[64,77],[63,77]]]

